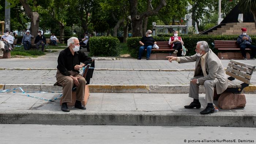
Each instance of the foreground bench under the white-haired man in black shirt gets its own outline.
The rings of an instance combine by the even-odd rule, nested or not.
[[[93,71],[94,71],[94,67],[95,67],[95,61],[94,58],[92,58],[93,62],[91,64],[87,64],[84,67],[84,71],[82,76],[84,77],[84,79],[86,80],[86,85],[85,85],[85,93],[84,93],[84,102],[81,102],[82,105],[86,105],[88,98],[90,96],[90,91],[89,91],[89,87],[88,84],[90,84],[90,79],[93,77]],[[55,83],[54,86],[60,86],[62,87],[61,84],[59,83]],[[60,99],[60,105],[62,104],[62,98]],[[72,102],[71,103],[67,103],[68,106],[75,106],[75,101],[76,101],[76,86],[74,85],[72,88]]]

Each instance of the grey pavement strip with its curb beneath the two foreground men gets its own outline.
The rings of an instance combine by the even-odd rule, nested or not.
[[[50,99],[59,94],[33,96]],[[49,102],[8,93],[0,94],[0,124],[256,127],[256,94],[246,94],[246,99],[244,108],[200,115],[206,106],[204,94],[199,96],[201,109],[184,109],[192,101],[188,94],[91,93],[87,110],[70,107],[71,111],[65,113],[60,110],[59,100]]]

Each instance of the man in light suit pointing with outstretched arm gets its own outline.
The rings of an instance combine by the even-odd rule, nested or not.
[[[199,86],[205,88],[206,108],[200,114],[210,114],[214,112],[213,95],[214,88],[217,94],[221,94],[227,89],[228,80],[225,69],[219,60],[218,56],[212,52],[206,41],[199,41],[196,45],[196,54],[185,57],[166,57],[170,62],[177,61],[178,63],[196,62],[194,77],[190,80],[189,97],[193,98],[190,105],[184,106],[186,109],[199,109]]]

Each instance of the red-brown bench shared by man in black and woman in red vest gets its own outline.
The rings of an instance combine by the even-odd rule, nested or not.
[[[174,52],[174,49],[171,49],[171,46],[169,45],[169,41],[157,41],[157,45],[159,46],[159,49],[152,49],[151,51],[161,51],[161,52]],[[182,50],[182,49],[181,49]],[[145,49],[144,51],[147,51]],[[177,56],[177,54],[171,54],[171,53],[151,53],[150,54],[150,60],[166,60],[167,56]]]

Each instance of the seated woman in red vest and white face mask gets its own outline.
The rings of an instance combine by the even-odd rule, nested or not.
[[[173,37],[170,37],[169,39],[169,45],[171,46],[171,49],[175,49],[174,50],[174,54],[177,53],[177,56],[180,57],[181,56],[181,49],[182,49],[182,45],[184,44],[184,42],[182,41],[181,37],[178,37],[178,31],[174,30],[173,31]]]

